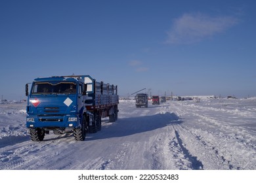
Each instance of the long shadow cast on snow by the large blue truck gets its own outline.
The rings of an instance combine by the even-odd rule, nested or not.
[[[181,124],[182,121],[175,113],[166,112],[152,116],[139,116],[135,118],[119,118],[110,125],[102,125],[102,131],[88,134],[90,138],[85,141],[108,139],[113,137],[125,137],[146,131],[160,129],[167,125]]]

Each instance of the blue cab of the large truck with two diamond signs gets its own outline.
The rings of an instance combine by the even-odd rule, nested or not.
[[[53,76],[36,78],[28,96],[26,126],[32,141],[43,141],[45,133],[54,134],[86,130],[86,86],[80,78]],[[88,119],[87,119],[88,121]],[[83,132],[85,133],[85,132]],[[80,134],[81,135],[81,134]],[[80,139],[84,139],[82,134]]]

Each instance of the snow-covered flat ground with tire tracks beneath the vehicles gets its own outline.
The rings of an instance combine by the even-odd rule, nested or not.
[[[33,142],[26,103],[0,103],[0,169],[256,169],[256,97],[148,108],[120,100],[118,117],[82,142],[53,133]]]

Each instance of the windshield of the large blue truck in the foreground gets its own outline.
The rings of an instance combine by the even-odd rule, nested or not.
[[[35,82],[32,94],[70,94],[76,93],[74,82]]]

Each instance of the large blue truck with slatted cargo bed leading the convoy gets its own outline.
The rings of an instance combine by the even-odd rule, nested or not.
[[[101,118],[117,120],[117,86],[96,82],[89,75],[35,78],[26,84],[26,127],[32,141],[45,134],[73,133],[84,141],[87,133],[101,130]]]

